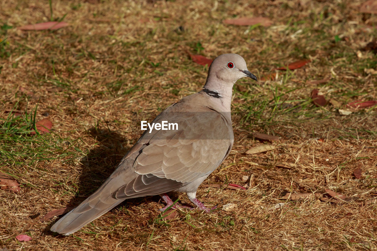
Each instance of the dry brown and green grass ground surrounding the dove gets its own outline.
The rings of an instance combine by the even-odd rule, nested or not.
[[[16,27],[50,20],[48,1],[2,0],[0,39],[8,38],[0,44],[0,169],[17,176],[22,188],[17,194],[0,190],[0,248],[376,250],[376,204],[365,203],[377,196],[376,108],[340,116],[331,104],[318,108],[309,98],[317,88],[343,107],[377,99],[376,76],[365,72],[376,68],[375,55],[360,50],[375,39],[377,18],[360,14],[360,4],[52,0],[53,18],[64,17],[70,26],[22,32]],[[222,23],[259,15],[273,25]],[[74,236],[51,233],[55,220],[40,217],[92,193],[141,135],[133,126],[139,118],[201,89],[207,68],[192,63],[187,52],[210,58],[238,53],[259,77],[276,66],[312,60],[302,69],[280,71],[275,81],[250,86],[240,80],[234,87],[234,147],[204,183],[242,185],[242,176],[254,178],[247,190],[199,187],[198,197],[220,208],[234,203],[235,210],[181,210],[165,222],[159,197],[146,197],[124,202]],[[310,82],[324,78],[329,80]],[[23,117],[4,112],[12,108]],[[31,113],[35,121],[50,119],[52,133],[28,135]],[[251,132],[280,136],[276,149],[244,155],[260,144]],[[282,161],[292,167],[275,167]],[[358,167],[362,177],[355,179]],[[360,199],[322,202],[325,189]],[[281,199],[291,191],[316,196]],[[18,234],[33,239],[18,242]]]

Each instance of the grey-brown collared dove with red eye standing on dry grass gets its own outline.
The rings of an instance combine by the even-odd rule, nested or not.
[[[185,192],[199,210],[199,185],[227,158],[233,146],[230,103],[234,83],[257,78],[238,54],[215,58],[204,89],[182,98],[152,122],[173,121],[176,130],[148,130],[139,138],[110,177],[74,210],[58,220],[51,231],[69,235],[130,198],[157,195],[173,205],[167,192]],[[180,205],[173,205],[173,208]]]

